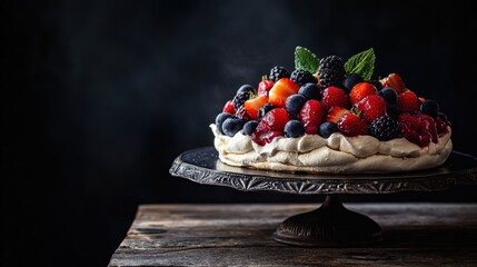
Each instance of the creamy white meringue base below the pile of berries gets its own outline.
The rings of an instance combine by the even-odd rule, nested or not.
[[[419,147],[406,138],[379,141],[371,136],[346,137],[339,132],[329,138],[305,135],[299,138],[277,137],[259,146],[240,131],[233,137],[220,135],[210,125],[213,145],[222,162],[238,167],[306,172],[396,172],[437,167],[453,150],[450,127],[438,142]]]

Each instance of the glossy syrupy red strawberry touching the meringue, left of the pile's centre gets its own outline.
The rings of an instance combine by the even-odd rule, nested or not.
[[[277,136],[284,136],[284,128],[288,120],[288,112],[284,108],[268,111],[258,123],[251,139],[260,146],[271,142]]]

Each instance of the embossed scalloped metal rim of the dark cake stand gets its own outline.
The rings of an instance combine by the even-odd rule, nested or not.
[[[476,186],[477,168],[457,171],[453,176],[403,179],[287,179],[212,170],[183,162],[177,157],[169,169],[179,176],[203,185],[227,186],[242,191],[270,190],[289,194],[389,194],[398,191],[434,191],[454,186]]]

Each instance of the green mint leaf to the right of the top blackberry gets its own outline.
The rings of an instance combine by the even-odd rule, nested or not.
[[[365,80],[370,80],[375,70],[375,50],[372,48],[357,53],[348,59],[345,63],[346,73],[358,73]]]

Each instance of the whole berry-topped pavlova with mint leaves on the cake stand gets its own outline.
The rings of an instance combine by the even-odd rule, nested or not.
[[[241,86],[210,125],[230,166],[328,174],[396,172],[445,162],[451,129],[439,105],[397,73],[372,80],[372,48],[344,61],[295,50],[295,70],[276,66]]]

